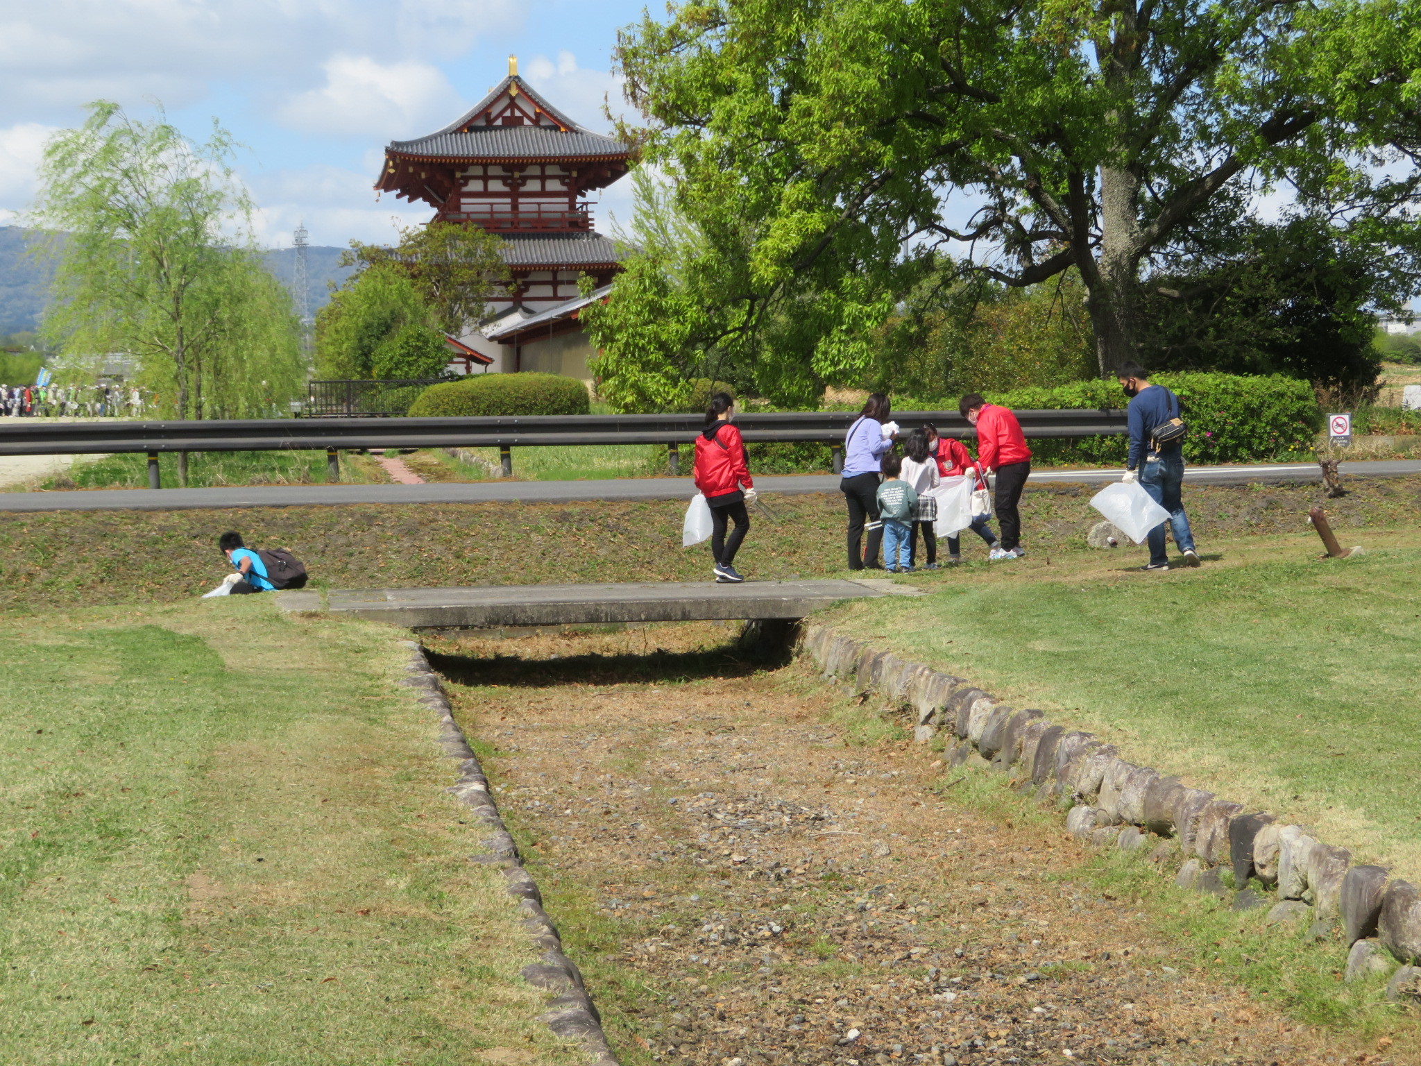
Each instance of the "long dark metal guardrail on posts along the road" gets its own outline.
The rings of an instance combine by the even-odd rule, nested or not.
[[[1127,432],[1124,411],[1017,411],[1029,438],[1113,436]],[[809,442],[834,446],[834,469],[844,434],[857,415],[803,411],[737,415],[747,443]],[[10,419],[4,419],[9,422]],[[497,448],[504,476],[513,473],[513,448],[554,445],[669,446],[671,472],[678,449],[695,441],[702,415],[527,415],[500,418],[257,418],[186,422],[47,422],[14,419],[0,425],[0,455],[85,455],[146,452],[148,479],[158,488],[159,452],[286,452],[325,449],[327,473],[340,476],[338,452],[364,448]],[[975,438],[956,411],[902,411],[904,431],[931,422],[945,436]]]

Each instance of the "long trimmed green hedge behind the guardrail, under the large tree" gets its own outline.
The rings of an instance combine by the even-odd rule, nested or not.
[[[1286,452],[1312,451],[1322,424],[1312,387],[1282,374],[1157,374],[1151,381],[1179,397],[1184,419],[1189,425],[1184,438],[1184,458],[1189,463],[1259,462]],[[1114,379],[1019,388],[989,394],[988,399],[1020,411],[1118,411],[1130,402]],[[955,401],[951,402],[955,407]],[[1121,463],[1128,441],[1124,436],[1096,436],[1032,441],[1030,446],[1046,462]]]

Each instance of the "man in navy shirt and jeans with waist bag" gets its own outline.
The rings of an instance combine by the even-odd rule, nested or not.
[[[1127,411],[1130,421],[1130,455],[1125,459],[1124,482],[1138,479],[1140,488],[1150,499],[1169,512],[1169,530],[1174,543],[1184,553],[1185,566],[1198,566],[1199,553],[1194,547],[1194,532],[1189,516],[1184,513],[1179,489],[1184,485],[1184,448],[1179,441],[1155,445],[1154,429],[1171,418],[1179,416],[1179,398],[1164,385],[1151,385],[1150,372],[1138,362],[1127,362],[1117,374],[1120,387],[1130,397]],[[1164,526],[1161,522],[1145,537],[1150,544],[1150,563],[1141,570],[1168,570],[1169,556],[1164,549]]]

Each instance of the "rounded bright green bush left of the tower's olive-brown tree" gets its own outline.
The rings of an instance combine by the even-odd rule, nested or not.
[[[375,367],[377,351],[395,345],[408,327],[415,333],[387,348],[379,357],[384,364],[394,364],[401,351],[418,358],[419,331],[432,331],[432,316],[404,270],[389,263],[367,267],[331,293],[315,316],[315,372],[337,379],[385,377]],[[439,368],[448,362],[445,354]]]

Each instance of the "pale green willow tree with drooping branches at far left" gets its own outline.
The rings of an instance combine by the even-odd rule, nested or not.
[[[252,244],[232,138],[215,125],[199,145],[117,104],[88,111],[45,145],[34,212],[58,262],[44,335],[61,379],[87,384],[124,352],[165,416],[284,408],[304,387],[298,323]]]

